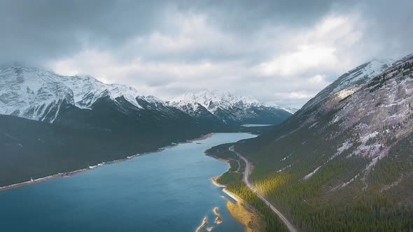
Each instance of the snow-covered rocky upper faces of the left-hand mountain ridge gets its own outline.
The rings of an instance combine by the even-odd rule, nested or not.
[[[54,122],[62,103],[91,109],[99,99],[118,101],[123,97],[144,109],[139,101],[165,105],[155,97],[141,96],[137,89],[104,84],[90,76],[64,76],[51,71],[21,66],[0,68],[0,114]]]

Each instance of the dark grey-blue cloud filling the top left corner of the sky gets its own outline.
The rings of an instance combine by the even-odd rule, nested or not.
[[[153,31],[165,1],[1,1],[1,61],[45,61]]]

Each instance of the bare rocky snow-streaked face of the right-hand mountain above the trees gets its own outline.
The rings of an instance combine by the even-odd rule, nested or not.
[[[413,131],[413,55],[379,69],[384,71],[372,71],[374,76],[363,85],[340,87],[306,121],[322,130],[337,126],[335,136],[346,133],[337,149],[369,157],[371,166]]]

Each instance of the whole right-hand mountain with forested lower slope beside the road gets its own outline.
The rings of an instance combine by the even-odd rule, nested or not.
[[[235,148],[252,161],[258,191],[302,231],[408,231],[412,89],[413,55],[373,60]]]

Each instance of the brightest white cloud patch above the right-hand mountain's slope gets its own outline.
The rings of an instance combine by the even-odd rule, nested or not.
[[[257,69],[262,75],[284,76],[301,75],[312,70],[344,70],[349,67],[349,58],[343,57],[342,53],[361,36],[355,27],[356,23],[349,17],[325,17],[312,29],[288,38],[294,41],[291,47],[271,60],[262,62]]]

